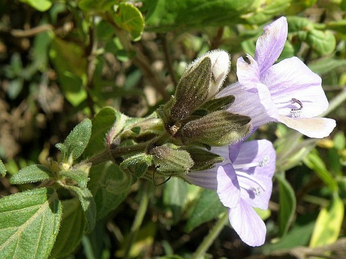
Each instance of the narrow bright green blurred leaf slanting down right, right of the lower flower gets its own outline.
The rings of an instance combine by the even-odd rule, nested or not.
[[[337,190],[337,183],[333,176],[326,169],[323,160],[315,152],[310,152],[303,160],[304,164],[314,170],[317,176],[330,188],[331,191]]]

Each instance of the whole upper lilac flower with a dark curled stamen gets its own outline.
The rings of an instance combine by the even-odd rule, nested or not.
[[[249,63],[243,58],[237,60],[238,82],[221,90],[217,97],[234,95],[229,110],[250,116],[253,127],[281,122],[308,137],[326,137],[335,120],[313,118],[328,108],[321,78],[297,57],[274,64],[286,38],[285,17],[265,26],[256,43],[255,58],[248,54]]]

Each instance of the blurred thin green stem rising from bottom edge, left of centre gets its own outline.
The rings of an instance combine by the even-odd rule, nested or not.
[[[131,232],[129,233],[130,234],[129,241],[126,243],[124,259],[129,258],[132,243],[135,241],[140,225],[143,222],[143,218],[144,218],[148,203],[149,203],[149,191],[147,187],[147,181],[145,181],[143,184],[142,199],[139,202],[139,208],[134,218],[134,221],[131,227]]]

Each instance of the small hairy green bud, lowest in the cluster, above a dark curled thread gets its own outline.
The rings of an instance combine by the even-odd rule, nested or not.
[[[193,160],[185,150],[156,146],[149,153],[153,156],[158,172],[164,175],[186,173],[193,166]]]

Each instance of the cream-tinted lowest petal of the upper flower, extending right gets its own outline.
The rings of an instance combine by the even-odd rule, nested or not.
[[[278,121],[311,138],[327,137],[336,126],[335,120],[329,118],[288,118],[280,115]]]

